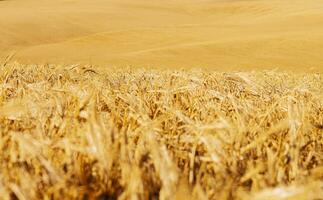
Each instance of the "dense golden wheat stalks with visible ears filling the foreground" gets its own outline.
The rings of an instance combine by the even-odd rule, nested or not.
[[[0,67],[1,199],[322,199],[319,73]]]

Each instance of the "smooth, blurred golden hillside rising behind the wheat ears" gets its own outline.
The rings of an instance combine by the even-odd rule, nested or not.
[[[23,63],[323,71],[322,0],[4,0]]]

